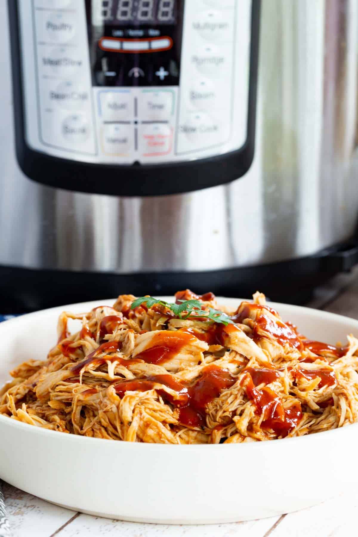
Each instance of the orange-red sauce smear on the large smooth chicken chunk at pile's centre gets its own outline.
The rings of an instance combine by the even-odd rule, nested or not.
[[[196,338],[190,333],[173,330],[160,330],[151,339],[150,348],[145,349],[136,358],[144,360],[147,364],[164,364],[176,356],[181,349]]]

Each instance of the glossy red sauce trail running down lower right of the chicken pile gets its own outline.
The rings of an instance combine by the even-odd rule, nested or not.
[[[262,429],[272,429],[277,436],[285,437],[302,419],[301,403],[295,402],[289,409],[285,409],[281,397],[270,388],[257,389],[254,386],[250,373],[246,373],[245,381],[247,397],[256,405],[258,415],[263,413]]]

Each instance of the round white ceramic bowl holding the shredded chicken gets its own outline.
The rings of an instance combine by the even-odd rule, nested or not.
[[[63,310],[89,311],[114,300],[71,304],[0,324],[0,384],[25,359],[56,342]],[[235,307],[236,299],[221,299]],[[335,343],[358,335],[358,321],[270,304],[306,336]],[[0,478],[69,509],[163,524],[223,523],[275,516],[321,502],[358,484],[358,425],[302,438],[228,445],[160,445],[84,438],[0,416]]]

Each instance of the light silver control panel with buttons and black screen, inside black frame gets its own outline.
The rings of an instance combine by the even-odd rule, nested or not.
[[[18,0],[28,146],[160,164],[246,142],[252,0]]]

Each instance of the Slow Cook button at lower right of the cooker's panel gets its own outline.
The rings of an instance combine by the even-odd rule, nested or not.
[[[221,130],[220,123],[205,112],[193,112],[184,124],[179,124],[179,134],[185,134],[193,142],[193,149],[221,143]]]

